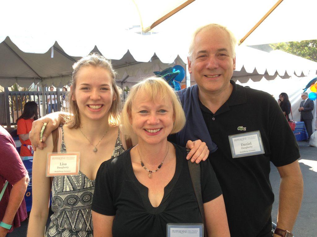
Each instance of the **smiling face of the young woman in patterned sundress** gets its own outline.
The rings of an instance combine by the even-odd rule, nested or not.
[[[112,78],[106,69],[86,66],[78,71],[72,100],[77,103],[81,122],[86,119],[108,119],[109,109],[115,99]]]

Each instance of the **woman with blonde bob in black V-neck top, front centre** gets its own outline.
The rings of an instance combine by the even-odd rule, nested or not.
[[[121,121],[138,145],[103,162],[92,203],[94,236],[165,236],[167,223],[202,223],[185,157],[167,141],[185,116],[177,95],[160,78],[129,92]],[[209,162],[201,162],[201,188],[208,236],[230,236],[222,191]]]

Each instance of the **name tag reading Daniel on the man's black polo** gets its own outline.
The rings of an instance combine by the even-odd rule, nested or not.
[[[264,154],[260,131],[230,135],[229,142],[233,158]]]

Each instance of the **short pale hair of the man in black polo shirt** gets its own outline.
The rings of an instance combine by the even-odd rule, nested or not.
[[[188,58],[189,60],[192,60],[192,56],[193,56],[193,51],[194,51],[194,47],[195,47],[195,38],[196,38],[196,35],[201,32],[202,30],[206,29],[206,30],[209,30],[209,29],[212,29],[212,28],[218,28],[218,29],[221,29],[221,30],[224,30],[226,33],[228,33],[229,35],[229,39],[230,39],[230,46],[231,46],[231,52],[232,52],[232,58],[236,57],[236,51],[235,51],[235,48],[236,48],[236,37],[234,36],[234,34],[227,29],[227,27],[225,26],[222,26],[222,25],[219,25],[219,24],[208,24],[208,25],[205,25],[205,26],[202,26],[202,27],[199,27],[192,35],[192,38],[191,38],[191,44],[189,46],[189,52],[188,52]]]

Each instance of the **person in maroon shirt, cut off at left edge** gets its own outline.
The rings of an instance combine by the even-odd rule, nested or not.
[[[24,194],[29,183],[29,175],[10,134],[0,126],[0,192],[9,182],[0,201],[0,222],[12,225],[9,230],[0,225],[0,237],[19,227],[28,215]]]

